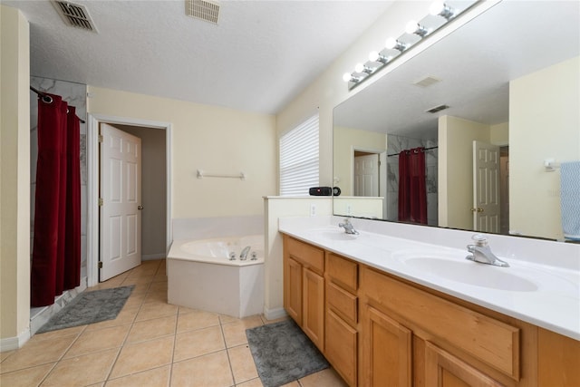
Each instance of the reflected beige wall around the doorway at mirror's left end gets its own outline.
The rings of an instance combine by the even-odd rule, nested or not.
[[[382,148],[381,148],[382,146]],[[333,137],[333,186],[341,188],[341,195],[353,195],[353,147],[356,150],[384,151],[387,148],[387,136],[375,131],[334,127]]]

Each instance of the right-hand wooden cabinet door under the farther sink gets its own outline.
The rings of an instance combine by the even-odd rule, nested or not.
[[[302,329],[324,352],[324,277],[303,267]]]

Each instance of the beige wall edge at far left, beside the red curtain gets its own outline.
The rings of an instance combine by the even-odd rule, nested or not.
[[[0,350],[28,339],[30,323],[29,26],[0,5]]]

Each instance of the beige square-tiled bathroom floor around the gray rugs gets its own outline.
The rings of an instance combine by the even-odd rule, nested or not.
[[[0,354],[0,385],[17,386],[262,386],[246,329],[272,323],[169,305],[165,260],[145,261],[89,288],[135,285],[115,320],[35,334]],[[332,369],[289,387],[345,386]]]

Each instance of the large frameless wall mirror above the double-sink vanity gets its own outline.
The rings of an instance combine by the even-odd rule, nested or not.
[[[563,240],[579,55],[580,3],[504,0],[354,93],[333,111],[334,215]],[[400,214],[400,174],[422,176],[426,217]]]

